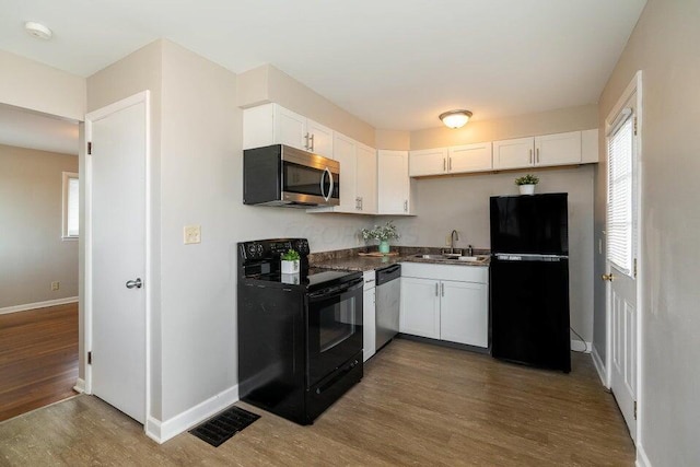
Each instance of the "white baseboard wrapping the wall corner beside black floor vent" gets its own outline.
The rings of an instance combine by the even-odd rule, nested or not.
[[[159,444],[165,443],[237,401],[238,385],[235,385],[164,422],[148,417],[145,434]]]

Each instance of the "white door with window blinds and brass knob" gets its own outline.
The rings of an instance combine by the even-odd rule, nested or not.
[[[611,119],[608,131],[607,268],[610,388],[637,439],[637,94]]]

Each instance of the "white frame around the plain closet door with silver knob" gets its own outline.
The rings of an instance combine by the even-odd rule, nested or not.
[[[151,93],[142,91],[85,115],[85,147],[92,141],[92,124],[116,112],[144,104],[145,121],[145,420],[151,413]],[[85,150],[85,393],[92,394],[92,367],[88,364],[88,352],[92,351],[93,337],[93,268],[92,268],[92,156]],[[145,423],[143,425],[145,430]]]

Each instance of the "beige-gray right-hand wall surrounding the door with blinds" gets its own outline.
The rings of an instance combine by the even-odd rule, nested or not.
[[[700,465],[698,25],[700,2],[649,0],[600,96],[603,125],[637,70],[642,70],[638,448],[654,466]],[[602,164],[596,235],[604,225],[605,187]],[[597,295],[602,290],[596,289]],[[598,331],[596,327],[596,346],[604,346],[605,336]]]

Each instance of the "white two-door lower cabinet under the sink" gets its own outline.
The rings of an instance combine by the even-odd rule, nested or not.
[[[489,346],[488,268],[402,264],[402,334]]]

